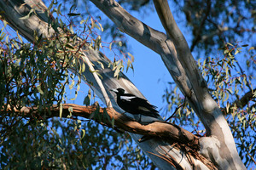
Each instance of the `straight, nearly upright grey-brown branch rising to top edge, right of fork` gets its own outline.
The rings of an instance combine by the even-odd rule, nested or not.
[[[183,33],[177,27],[176,21],[173,18],[168,2],[166,0],[154,0],[154,6],[168,37],[170,37],[170,39],[174,43],[174,46],[177,50],[177,57],[183,65],[186,75],[189,78],[193,93],[195,93],[195,100],[197,100],[196,103],[201,103],[201,105],[199,105],[201,108],[198,108],[200,110],[198,110],[199,112],[197,112],[197,114],[199,114],[201,110],[204,112],[210,112],[214,110],[214,108],[218,106],[213,101],[210,94],[208,94],[206,82],[201,76],[201,72],[198,69],[195,59],[190,53],[189,45],[185,37],[183,37]],[[190,96],[188,97],[190,98]],[[212,99],[212,104],[215,103],[215,105],[207,105],[206,98]],[[201,121],[203,122],[203,119],[201,119]],[[204,123],[204,125],[207,128],[207,124]],[[211,129],[207,129],[207,131],[210,130]]]

